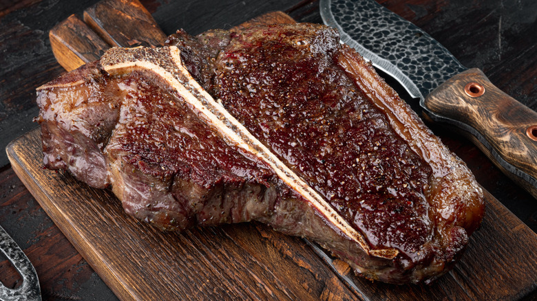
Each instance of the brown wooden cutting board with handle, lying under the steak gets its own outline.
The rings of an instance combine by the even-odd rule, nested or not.
[[[98,57],[109,45],[162,43],[154,38],[158,26],[139,3],[107,0],[84,16],[92,29],[71,16],[50,32],[54,54],[67,69]],[[286,20],[277,12],[254,22]],[[151,29],[140,30],[144,26]],[[12,168],[45,212],[122,300],[536,296],[537,236],[486,191],[483,225],[470,238],[461,262],[433,285],[397,286],[359,278],[315,244],[259,223],[160,232],[127,216],[108,190],[90,188],[67,172],[43,169],[38,129],[6,150]]]

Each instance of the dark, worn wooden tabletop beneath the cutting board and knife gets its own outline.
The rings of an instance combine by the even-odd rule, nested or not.
[[[38,112],[35,88],[64,72],[52,55],[48,31],[70,14],[81,15],[96,2],[0,1],[2,149],[36,126],[32,122]],[[214,27],[229,28],[273,10],[287,12],[297,21],[322,23],[317,1],[142,2],[166,34],[181,27],[191,34]],[[463,65],[483,69],[497,87],[537,110],[537,1],[379,2],[422,27]],[[430,126],[470,166],[481,185],[537,232],[536,199],[507,179],[468,140],[441,126]],[[0,195],[0,225],[36,267],[44,300],[116,299],[14,175],[4,151],[0,152]],[[20,282],[5,258],[0,258],[0,281],[8,287]],[[327,300],[331,297],[319,296]]]

